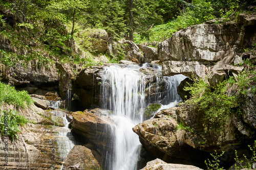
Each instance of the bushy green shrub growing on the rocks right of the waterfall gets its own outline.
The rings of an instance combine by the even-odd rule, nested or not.
[[[191,99],[187,104],[191,104],[193,109],[202,111],[203,120],[206,122],[208,130],[220,130],[222,125],[227,122],[231,107],[237,103],[237,96],[228,95],[227,81],[219,83],[216,87],[211,87],[206,80],[194,79],[193,86],[185,87],[190,90]]]

